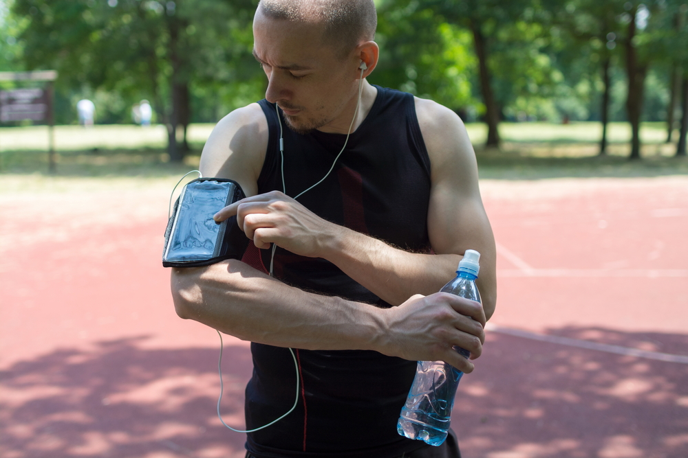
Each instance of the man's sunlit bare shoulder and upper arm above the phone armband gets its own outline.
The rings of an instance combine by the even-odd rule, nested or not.
[[[257,179],[268,147],[268,123],[260,106],[251,104],[222,118],[203,148],[200,171],[237,181],[246,196],[257,194]]]

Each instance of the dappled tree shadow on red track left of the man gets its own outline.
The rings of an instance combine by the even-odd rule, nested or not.
[[[218,350],[142,350],[145,340],[56,350],[0,372],[0,455],[244,457],[245,435],[215,415]],[[226,345],[224,355],[223,417],[241,428],[250,353]]]

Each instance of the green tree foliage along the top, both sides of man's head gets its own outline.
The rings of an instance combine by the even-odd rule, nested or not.
[[[641,119],[667,119],[687,97],[688,89],[671,88],[688,78],[688,20],[679,21],[688,0],[376,4],[381,53],[370,81],[482,117],[489,145],[499,144],[497,124],[505,118],[627,119],[638,157]],[[60,93],[90,95],[109,106],[111,120],[125,117],[133,101],[151,100],[179,160],[177,126],[217,120],[264,94],[264,75],[250,54],[256,5],[0,0],[0,30],[8,37],[0,41],[0,65],[57,69],[58,104]]]

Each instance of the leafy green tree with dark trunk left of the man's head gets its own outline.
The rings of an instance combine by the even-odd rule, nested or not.
[[[191,84],[250,58],[232,39],[246,33],[254,8],[250,0],[15,0],[12,12],[28,18],[29,68],[54,67],[65,86],[151,98],[169,156],[182,161],[177,128],[185,133],[191,118]]]

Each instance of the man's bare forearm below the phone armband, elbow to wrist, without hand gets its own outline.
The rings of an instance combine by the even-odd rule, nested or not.
[[[374,307],[305,293],[237,260],[173,269],[172,293],[180,317],[246,341],[363,350],[379,334]]]

